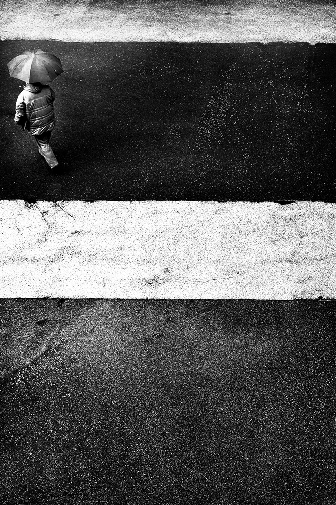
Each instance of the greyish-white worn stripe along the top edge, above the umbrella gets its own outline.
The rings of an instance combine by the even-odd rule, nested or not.
[[[2,40],[162,42],[336,42],[332,3],[291,0],[116,4],[3,0]],[[112,4],[112,5],[111,5]],[[215,5],[217,4],[217,5]]]

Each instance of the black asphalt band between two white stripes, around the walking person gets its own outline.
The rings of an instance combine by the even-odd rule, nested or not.
[[[26,48],[56,54],[51,174],[14,124]],[[335,201],[333,44],[0,42],[0,198]]]

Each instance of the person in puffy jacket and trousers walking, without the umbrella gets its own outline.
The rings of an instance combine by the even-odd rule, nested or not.
[[[59,163],[50,145],[51,132],[55,127],[55,92],[50,86],[40,82],[26,82],[15,106],[14,121],[25,125],[34,137],[41,156],[49,167],[55,169]]]

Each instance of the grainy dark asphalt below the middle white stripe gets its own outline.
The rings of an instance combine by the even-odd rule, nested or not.
[[[2,300],[0,319],[2,503],[334,503],[334,302]]]

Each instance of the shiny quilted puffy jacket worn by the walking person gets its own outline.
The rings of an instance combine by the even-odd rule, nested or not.
[[[20,123],[27,117],[27,130],[32,135],[42,135],[55,127],[55,92],[45,84],[27,84],[19,94],[14,121]]]

